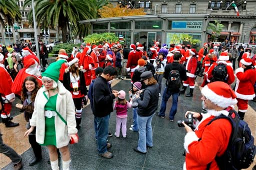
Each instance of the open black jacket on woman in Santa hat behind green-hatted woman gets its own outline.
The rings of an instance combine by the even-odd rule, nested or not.
[[[83,95],[87,95],[86,85],[85,85],[85,79],[83,72],[79,70],[79,77],[80,77],[80,90]],[[73,89],[70,87],[70,76],[69,71],[65,72],[63,75],[63,85],[68,91],[72,91]]]

